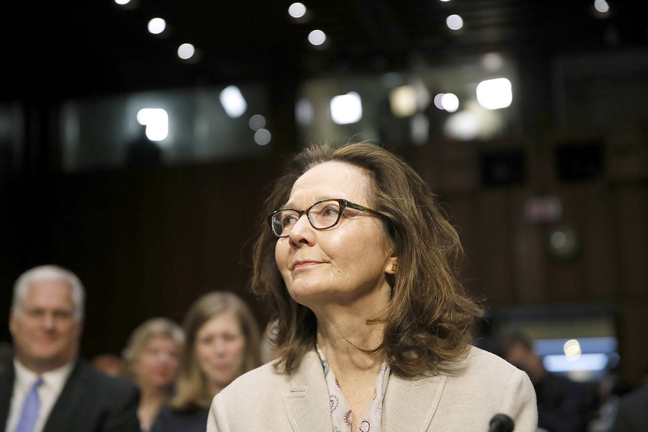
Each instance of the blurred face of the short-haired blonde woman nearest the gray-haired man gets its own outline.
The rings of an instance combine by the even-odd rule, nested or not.
[[[178,374],[179,347],[168,336],[153,336],[135,359],[135,376],[142,387],[167,389]]]

